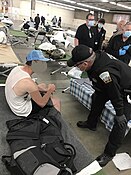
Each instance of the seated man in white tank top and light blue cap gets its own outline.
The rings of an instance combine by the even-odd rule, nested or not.
[[[40,50],[32,50],[26,57],[24,66],[15,67],[9,74],[5,84],[7,103],[14,114],[27,117],[39,112],[48,105],[60,111],[60,101],[53,97],[55,85],[36,84],[31,75],[34,73],[32,64],[48,61]],[[40,92],[43,92],[43,96]]]

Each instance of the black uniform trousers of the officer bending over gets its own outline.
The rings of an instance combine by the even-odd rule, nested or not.
[[[97,127],[99,117],[102,113],[103,108],[105,107],[105,103],[108,100],[109,99],[107,98],[106,94],[102,92],[95,91],[95,93],[92,95],[92,106],[87,120],[92,128]],[[124,104],[125,115],[129,116],[129,114],[131,114],[131,105],[129,105],[129,103],[127,103],[126,100],[124,103],[125,103]],[[116,154],[117,149],[121,146],[123,142],[125,132],[126,132],[126,126],[120,128],[114,119],[114,126],[110,133],[109,140],[108,143],[106,144],[104,153],[113,157]]]

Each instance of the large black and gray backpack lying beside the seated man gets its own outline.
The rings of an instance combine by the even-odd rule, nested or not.
[[[73,145],[65,143],[55,117],[7,121],[11,156],[2,156],[11,175],[72,175],[76,172]]]

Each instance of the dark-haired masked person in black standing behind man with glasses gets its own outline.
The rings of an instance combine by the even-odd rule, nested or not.
[[[98,20],[98,24],[92,27],[95,35],[94,51],[102,49],[102,43],[105,40],[105,34],[106,34],[106,30],[103,28],[104,24],[105,19],[101,18]]]

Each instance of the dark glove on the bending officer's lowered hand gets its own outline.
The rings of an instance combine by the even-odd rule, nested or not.
[[[115,120],[121,129],[127,126],[127,119],[124,114],[120,116],[115,116]]]

